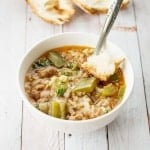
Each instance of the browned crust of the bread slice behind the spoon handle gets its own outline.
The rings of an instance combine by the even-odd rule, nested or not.
[[[109,8],[92,8],[86,3],[83,3],[80,0],[73,0],[74,4],[80,7],[83,11],[88,14],[100,14],[100,13],[107,13]],[[121,9],[125,9],[128,7],[130,0],[123,1]]]

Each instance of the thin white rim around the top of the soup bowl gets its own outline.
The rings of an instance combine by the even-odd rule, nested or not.
[[[131,70],[131,74],[132,74],[132,83],[131,83],[131,86],[130,86],[130,91],[128,92],[128,95],[126,96],[126,98],[123,98],[121,100],[121,102],[115,106],[115,108],[113,108],[110,112],[106,113],[106,114],[103,114],[101,116],[98,116],[96,118],[92,118],[92,119],[87,119],[87,120],[65,120],[65,119],[60,119],[60,118],[55,118],[55,117],[52,117],[48,114],[45,114],[43,113],[42,111],[38,110],[37,108],[35,108],[31,103],[30,101],[28,100],[28,97],[24,94],[24,92],[22,91],[21,89],[21,83],[20,83],[20,71],[21,71],[21,66],[23,65],[24,63],[24,60],[26,59],[26,57],[32,52],[32,50],[39,46],[40,44],[46,42],[47,40],[50,40],[52,38],[55,38],[55,37],[58,37],[58,36],[63,36],[63,35],[81,35],[81,36],[93,36],[95,38],[98,37],[97,34],[92,34],[92,33],[85,33],[85,32],[64,32],[64,33],[57,33],[57,34],[54,34],[54,35],[51,35],[51,36],[47,36],[46,38],[43,38],[37,42],[35,42],[31,47],[27,48],[26,49],[26,52],[24,53],[23,57],[21,58],[20,60],[20,63],[19,63],[19,66],[18,66],[18,71],[17,71],[17,81],[18,81],[18,90],[19,90],[19,93],[21,95],[21,98],[22,100],[30,107],[32,107],[32,109],[34,111],[36,111],[39,115],[41,115],[42,117],[44,118],[48,118],[50,120],[54,120],[54,121],[57,121],[57,122],[63,122],[65,124],[70,124],[70,123],[73,123],[73,124],[83,124],[83,123],[92,123],[92,122],[95,122],[95,121],[98,121],[98,120],[102,120],[104,118],[107,118],[108,116],[114,114],[115,112],[118,111],[118,109],[120,109],[124,104],[125,102],[127,102],[127,100],[129,99],[129,97],[131,96],[131,93],[133,91],[133,85],[134,85],[134,72],[133,72],[133,67],[131,65],[131,62],[129,60],[129,58],[126,56],[126,53],[123,51],[123,54],[125,55],[126,59],[128,60],[128,63],[130,65],[130,70]],[[120,50],[122,50],[122,48],[120,48],[118,45],[116,45],[115,43],[111,42],[108,40],[109,43],[113,44],[114,46],[116,46],[117,48],[119,48]]]

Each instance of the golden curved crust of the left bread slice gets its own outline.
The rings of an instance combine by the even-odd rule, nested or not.
[[[42,14],[40,14],[37,10],[37,8],[32,4],[32,2],[30,0],[25,0],[27,2],[27,4],[31,7],[32,12],[37,15],[38,17],[40,17],[42,20],[46,21],[47,23],[52,23],[52,24],[64,24],[66,22],[68,22],[71,17],[74,15],[75,10],[72,7],[72,10],[70,12],[68,12],[68,17],[66,18],[61,18],[60,20],[56,21],[50,18],[46,18],[44,17]]]

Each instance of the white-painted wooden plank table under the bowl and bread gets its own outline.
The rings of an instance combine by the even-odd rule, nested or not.
[[[65,25],[51,25],[32,14],[24,0],[0,0],[0,150],[150,150],[150,2],[134,0],[121,11],[109,39],[129,56],[133,93],[122,114],[89,134],[72,135],[43,128],[21,101],[17,67],[36,41],[61,32],[99,34],[105,15],[78,9]]]

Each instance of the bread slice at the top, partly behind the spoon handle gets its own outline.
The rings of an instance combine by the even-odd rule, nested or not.
[[[73,2],[88,14],[106,13],[113,0],[73,0]],[[121,8],[127,8],[130,0],[124,0]]]

